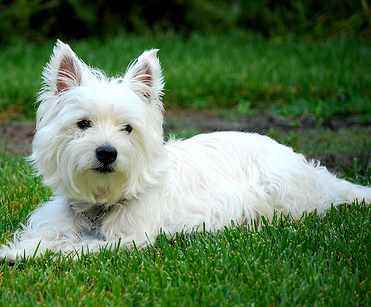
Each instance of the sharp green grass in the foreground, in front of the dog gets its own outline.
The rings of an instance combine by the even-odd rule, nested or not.
[[[0,242],[50,196],[20,158],[0,155]],[[370,184],[371,169],[347,176]],[[276,217],[263,227],[161,236],[144,250],[0,265],[0,305],[368,305],[371,208]]]

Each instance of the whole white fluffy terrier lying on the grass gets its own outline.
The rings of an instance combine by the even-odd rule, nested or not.
[[[217,230],[275,211],[299,217],[371,201],[371,188],[336,178],[269,137],[218,132],[163,140],[157,50],[108,78],[57,42],[43,72],[31,161],[53,198],[0,258],[145,246],[160,232]]]

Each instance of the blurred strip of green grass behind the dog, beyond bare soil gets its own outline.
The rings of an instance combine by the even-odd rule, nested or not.
[[[40,74],[52,44],[19,42],[1,50],[0,110],[33,118]],[[167,108],[227,108],[242,115],[265,110],[319,120],[355,115],[367,121],[371,116],[367,41],[266,40],[230,33],[189,38],[122,35],[71,45],[87,63],[115,75],[144,49],[160,48]]]

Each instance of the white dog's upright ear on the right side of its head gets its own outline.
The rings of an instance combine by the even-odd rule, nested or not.
[[[160,99],[163,94],[164,79],[158,49],[143,52],[127,69],[124,80],[139,95],[147,99]]]

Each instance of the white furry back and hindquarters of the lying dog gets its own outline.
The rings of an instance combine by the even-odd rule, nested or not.
[[[165,189],[174,210],[179,203],[184,212],[189,203],[190,212],[211,215],[204,216],[211,228],[242,216],[271,217],[276,210],[298,217],[332,204],[371,201],[371,188],[339,179],[267,136],[215,132],[172,141],[166,148],[172,164]]]

